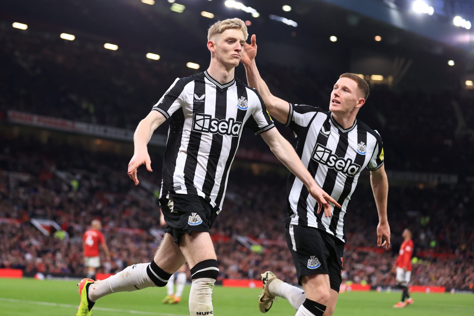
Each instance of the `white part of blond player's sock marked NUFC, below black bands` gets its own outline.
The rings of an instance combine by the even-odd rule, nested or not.
[[[216,279],[199,278],[192,280],[189,292],[189,311],[191,315],[213,315],[212,288]],[[201,313],[201,314],[198,314]]]

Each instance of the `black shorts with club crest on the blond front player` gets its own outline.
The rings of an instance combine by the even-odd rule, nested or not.
[[[209,232],[217,217],[218,208],[198,195],[170,193],[169,198],[161,198],[159,202],[168,224],[164,232],[171,234],[176,244],[184,233]]]

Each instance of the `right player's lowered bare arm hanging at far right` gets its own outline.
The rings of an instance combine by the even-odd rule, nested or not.
[[[388,180],[385,167],[370,172],[370,184],[374,192],[375,205],[379,213],[379,225],[377,226],[377,245],[385,247],[386,250],[390,247],[390,226],[387,219],[387,196],[388,196]],[[382,244],[382,238],[385,241]]]

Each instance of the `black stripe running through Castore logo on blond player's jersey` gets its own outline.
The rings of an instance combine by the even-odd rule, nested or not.
[[[194,94],[202,96],[206,93],[206,83],[204,78],[199,78],[194,80]],[[204,104],[202,100],[197,100],[193,98],[192,104],[192,113],[204,113]],[[186,157],[186,163],[184,164],[184,184],[186,185],[186,190],[188,194],[197,195],[198,191],[194,187],[194,174],[196,172],[196,166],[198,164],[198,153],[199,146],[201,145],[201,135],[202,133],[195,132],[191,130],[189,135],[188,148],[186,152],[188,153]]]

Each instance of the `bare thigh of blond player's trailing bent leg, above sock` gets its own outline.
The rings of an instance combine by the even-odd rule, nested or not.
[[[165,272],[174,273],[186,262],[186,259],[174,242],[173,236],[166,233],[156,250],[154,261]]]

